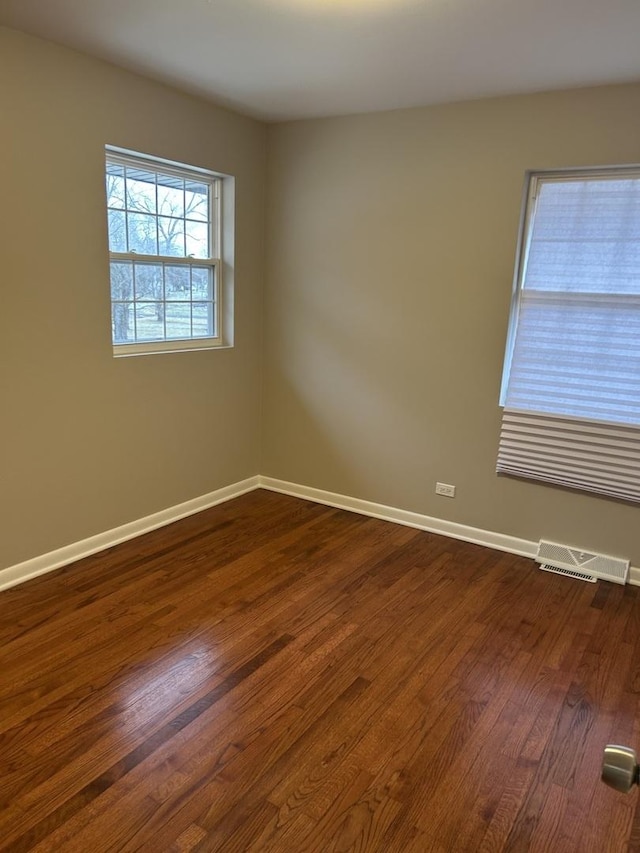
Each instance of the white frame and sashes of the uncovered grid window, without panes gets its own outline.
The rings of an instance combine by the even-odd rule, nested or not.
[[[195,166],[186,166],[172,160],[165,160],[152,155],[141,154],[127,149],[114,146],[105,147],[105,167],[109,164],[125,166],[129,168],[146,169],[157,171],[163,175],[175,176],[183,180],[191,180],[209,186],[209,256],[196,258],[194,256],[175,256],[161,254],[142,254],[138,252],[114,252],[109,249],[109,270],[113,261],[124,261],[133,263],[152,263],[156,265],[185,266],[185,267],[208,267],[211,269],[213,279],[212,312],[214,335],[203,337],[192,336],[189,338],[157,339],[148,341],[135,341],[131,343],[117,343],[113,339],[112,347],[115,357],[131,355],[149,355],[155,353],[193,351],[203,349],[216,349],[229,345],[229,336],[225,325],[225,305],[223,305],[225,288],[223,286],[223,185],[231,181],[228,176],[201,169]],[[106,175],[106,168],[105,168]],[[108,203],[108,200],[107,200]],[[108,213],[110,208],[106,206]],[[158,214],[156,214],[157,216]],[[107,234],[109,237],[109,234]],[[165,308],[169,304],[165,300]],[[113,298],[110,297],[110,305],[113,306]],[[135,311],[135,308],[134,308]],[[112,326],[112,322],[110,324]]]

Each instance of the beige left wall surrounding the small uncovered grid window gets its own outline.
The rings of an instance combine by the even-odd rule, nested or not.
[[[263,125],[0,30],[0,568],[257,473]],[[235,347],[114,359],[105,143],[236,176]]]

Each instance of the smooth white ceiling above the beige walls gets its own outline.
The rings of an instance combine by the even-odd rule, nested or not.
[[[269,121],[640,80],[640,0],[0,0],[0,24]]]

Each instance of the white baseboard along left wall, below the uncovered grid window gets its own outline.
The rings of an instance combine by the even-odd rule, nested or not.
[[[188,515],[195,515],[195,513],[202,512],[202,510],[209,509],[216,504],[252,492],[259,487],[259,480],[260,478],[257,476],[249,477],[239,483],[224,486],[214,492],[139,518],[137,521],[131,521],[104,533],[98,533],[96,536],[90,536],[88,539],[82,539],[80,542],[57,548],[48,554],[42,554],[31,560],[25,560],[23,563],[9,566],[9,568],[0,571],[0,590],[24,583],[24,581],[47,574],[47,572],[52,572],[69,563],[75,563],[76,560],[81,560],[83,557],[90,557],[99,551],[105,551],[107,548],[112,548],[128,539],[134,539],[143,533],[165,527],[167,524],[172,524]]]

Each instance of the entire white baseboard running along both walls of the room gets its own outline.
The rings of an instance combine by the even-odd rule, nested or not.
[[[209,509],[209,507],[216,506],[216,504],[239,497],[258,488],[303,498],[304,500],[325,504],[326,506],[334,506],[338,509],[346,509],[350,512],[357,512],[360,515],[367,515],[372,518],[380,518],[384,521],[392,521],[407,527],[415,527],[418,530],[426,530],[429,533],[439,533],[442,536],[449,536],[451,539],[461,539],[464,542],[484,545],[487,548],[506,551],[509,554],[518,554],[521,557],[534,557],[538,550],[538,543],[528,539],[518,539],[515,536],[494,533],[493,531],[482,530],[478,527],[469,527],[466,524],[457,524],[454,521],[421,515],[417,512],[409,512],[408,510],[397,509],[396,507],[385,506],[384,504],[373,503],[372,501],[364,501],[360,498],[351,498],[335,492],[326,492],[323,489],[300,486],[297,483],[276,480],[273,477],[255,476],[249,477],[247,480],[242,480],[239,483],[225,486],[222,489],[216,489],[216,491],[209,492],[209,494],[202,495],[199,498],[193,498],[193,500],[168,507],[160,512],[153,513],[153,515],[147,515],[145,518],[140,518],[137,521],[115,527],[113,530],[107,530],[104,533],[98,533],[96,536],[90,536],[88,539],[82,539],[80,542],[74,542],[71,545],[50,551],[48,554],[42,554],[39,557],[34,557],[31,560],[25,560],[23,563],[17,563],[15,566],[9,566],[9,568],[0,570],[0,590],[8,589],[31,578],[52,572],[54,569],[74,563],[83,557],[89,557],[91,554],[104,551],[114,545],[119,545],[121,542],[126,542],[128,539],[134,539],[143,533],[149,533],[158,527],[164,527],[188,515],[202,512],[202,510]],[[633,586],[640,586],[640,567],[631,567],[628,582]]]

